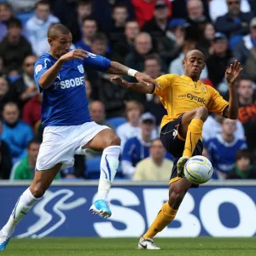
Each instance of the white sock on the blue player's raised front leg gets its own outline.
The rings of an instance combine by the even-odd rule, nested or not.
[[[119,154],[121,153],[120,146],[109,146],[102,153],[101,160],[101,176],[98,187],[98,199],[108,199],[108,192],[119,167]]]

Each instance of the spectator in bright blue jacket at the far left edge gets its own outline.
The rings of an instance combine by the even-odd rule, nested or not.
[[[2,139],[8,143],[13,163],[26,155],[27,143],[32,139],[32,128],[20,118],[20,111],[15,102],[8,102],[3,106]]]

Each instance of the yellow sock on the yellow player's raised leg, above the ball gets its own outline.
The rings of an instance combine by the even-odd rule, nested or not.
[[[198,140],[201,138],[203,125],[204,125],[204,122],[201,119],[192,119],[188,127],[183,156],[189,156],[189,157],[192,156],[195,150],[195,145],[198,142]]]

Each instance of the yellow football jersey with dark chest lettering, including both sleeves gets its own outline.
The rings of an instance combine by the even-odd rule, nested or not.
[[[166,74],[156,79],[160,88],[155,87],[154,94],[160,96],[167,114],[161,127],[189,110],[206,107],[209,112],[222,115],[229,103],[211,86],[193,81],[189,77]]]

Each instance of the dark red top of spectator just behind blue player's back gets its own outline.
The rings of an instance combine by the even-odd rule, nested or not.
[[[33,96],[28,102],[26,102],[22,119],[26,124],[30,125],[34,131],[37,131],[38,125],[41,121],[41,108],[43,102],[43,94],[40,93],[36,96]]]

